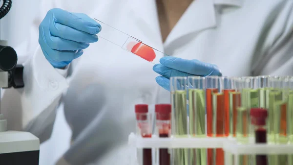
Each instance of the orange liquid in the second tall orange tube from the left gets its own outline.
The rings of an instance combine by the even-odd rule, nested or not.
[[[225,126],[225,136],[229,136],[230,130],[230,92],[235,90],[223,90],[224,93],[224,126]]]

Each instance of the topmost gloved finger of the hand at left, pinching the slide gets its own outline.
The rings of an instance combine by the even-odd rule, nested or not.
[[[54,16],[53,22],[55,23],[63,24],[89,34],[98,34],[101,31],[101,25],[85,14],[70,13],[60,8],[51,9],[48,11],[48,14]]]

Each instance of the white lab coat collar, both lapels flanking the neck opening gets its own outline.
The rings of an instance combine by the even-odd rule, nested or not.
[[[156,0],[130,0],[130,2],[128,4],[132,6],[131,10],[135,13],[137,25],[144,29],[151,41],[155,41],[154,38],[161,39]],[[194,0],[168,35],[164,47],[176,45],[177,39],[191,33],[216,27],[215,6],[241,7],[242,3],[243,0]]]

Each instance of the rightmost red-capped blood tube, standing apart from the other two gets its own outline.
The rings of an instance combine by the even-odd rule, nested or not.
[[[266,120],[268,111],[262,108],[251,108],[251,124],[253,125],[255,143],[267,143]],[[266,155],[256,155],[256,165],[268,165]]]

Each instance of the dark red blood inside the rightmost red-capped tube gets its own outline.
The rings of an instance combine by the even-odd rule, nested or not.
[[[267,130],[258,129],[255,131],[255,143],[267,142]],[[256,165],[268,165],[266,155],[256,155]]]

